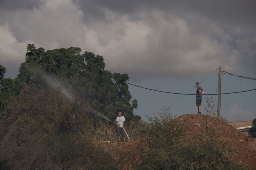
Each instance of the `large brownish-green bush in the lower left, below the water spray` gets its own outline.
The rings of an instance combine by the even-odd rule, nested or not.
[[[90,114],[60,92],[25,85],[8,114],[0,169],[114,168],[111,156],[92,143]]]

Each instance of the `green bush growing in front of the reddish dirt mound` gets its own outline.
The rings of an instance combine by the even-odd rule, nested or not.
[[[169,108],[149,118],[144,129],[141,162],[138,169],[242,169],[228,160],[214,142],[214,133],[209,142],[180,144],[183,129]],[[184,138],[184,137],[183,137]]]

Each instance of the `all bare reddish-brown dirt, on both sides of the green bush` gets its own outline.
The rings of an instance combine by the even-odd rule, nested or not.
[[[227,122],[212,116],[188,114],[177,117],[175,121],[184,130],[180,134],[181,144],[193,144],[202,140],[215,142],[229,159],[246,169],[256,169],[256,138],[246,137]],[[214,138],[211,137],[212,133],[215,134]],[[117,162],[120,162],[118,165],[120,169],[131,169],[132,165],[139,163],[140,157],[143,156],[140,152],[141,145],[142,143],[136,140],[107,144],[105,148]],[[118,150],[124,151],[124,154],[120,154]]]

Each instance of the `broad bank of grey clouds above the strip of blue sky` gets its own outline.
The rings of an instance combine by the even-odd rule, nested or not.
[[[148,1],[122,5],[45,0],[15,12],[5,10],[0,18],[0,63],[7,67],[7,76],[13,75],[8,72],[11,63],[23,62],[26,45],[35,43],[46,50],[76,46],[92,51],[103,55],[106,69],[138,78],[188,77],[218,66],[255,73],[255,23],[249,22],[254,3],[247,7],[236,2],[244,15],[231,18],[238,7],[217,9],[217,2],[198,2],[152,1],[150,6]],[[215,12],[207,10],[209,6]]]

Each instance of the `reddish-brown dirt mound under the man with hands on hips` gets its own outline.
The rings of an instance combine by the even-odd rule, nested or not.
[[[210,133],[214,132],[216,141],[225,144],[225,147],[227,147],[223,150],[229,150],[225,153],[226,156],[237,163],[241,163],[244,167],[256,169],[255,138],[244,136],[227,122],[212,116],[181,115],[175,120],[182,124],[184,129],[184,134],[182,134],[184,144],[191,144],[191,142],[197,140],[210,140]]]

